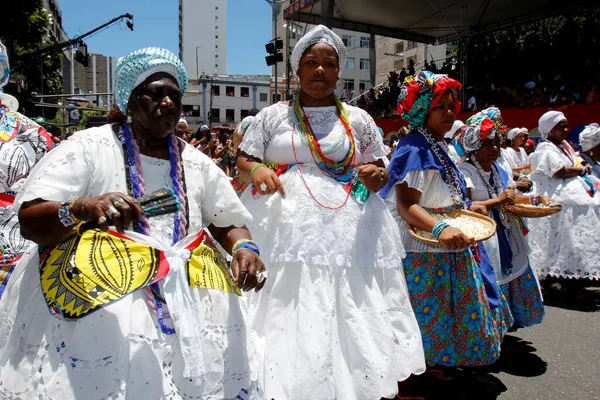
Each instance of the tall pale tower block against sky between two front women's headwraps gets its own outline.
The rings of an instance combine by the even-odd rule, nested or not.
[[[190,79],[227,73],[227,0],[179,0],[179,58]]]

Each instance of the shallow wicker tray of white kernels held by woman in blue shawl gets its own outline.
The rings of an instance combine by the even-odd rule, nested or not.
[[[485,215],[474,213],[472,211],[453,210],[452,212],[447,214],[432,215],[437,219],[443,219],[447,221],[450,226],[458,227],[457,225],[462,225],[462,227],[459,229],[461,229],[463,233],[465,233],[467,236],[473,236],[476,242],[487,240],[494,236],[494,234],[496,233],[496,222],[493,219]],[[477,226],[477,232],[469,232],[469,226]],[[421,231],[410,224],[408,225],[408,233],[413,238],[421,242],[436,245],[440,244],[438,240],[433,238],[430,232]]]

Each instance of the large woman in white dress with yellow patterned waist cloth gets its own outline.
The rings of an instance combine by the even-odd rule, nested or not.
[[[239,288],[260,288],[264,266],[227,177],[173,134],[187,79],[167,50],[124,57],[116,122],[75,134],[31,173],[15,206],[38,246],[0,301],[0,397],[260,397]],[[147,219],[135,198],[165,186],[180,211]],[[87,220],[100,229],[80,231]],[[203,227],[233,253],[237,285]]]

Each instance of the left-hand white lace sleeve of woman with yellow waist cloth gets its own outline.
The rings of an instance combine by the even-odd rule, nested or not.
[[[63,201],[71,196],[88,195],[90,178],[94,176],[87,154],[77,140],[65,140],[33,168],[15,200],[15,211],[24,202],[44,199]]]

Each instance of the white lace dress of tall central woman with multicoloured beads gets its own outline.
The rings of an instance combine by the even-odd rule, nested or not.
[[[345,107],[356,163],[385,158],[371,117]],[[336,108],[305,111],[323,151],[342,159],[349,141]],[[375,193],[362,206],[350,197],[336,211],[316,203],[312,196],[340,206],[346,191],[318,169],[293,121],[286,104],[268,107],[240,145],[263,161],[301,163],[281,175],[285,199],[255,198],[250,189],[241,197],[269,270],[263,290],[249,298],[251,367],[266,396],[277,400],[394,397],[397,381],[425,369],[398,228]]]

